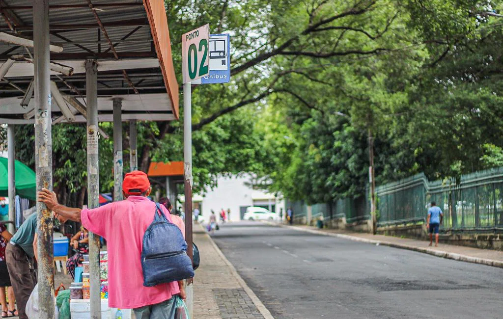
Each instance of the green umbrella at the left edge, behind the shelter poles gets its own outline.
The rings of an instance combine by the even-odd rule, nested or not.
[[[9,195],[8,165],[7,158],[0,157],[0,196]],[[14,162],[14,171],[16,173],[16,195],[36,200],[37,179],[35,172],[20,161]]]

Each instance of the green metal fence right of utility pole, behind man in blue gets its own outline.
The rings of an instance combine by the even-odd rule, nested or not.
[[[503,167],[430,182],[417,174],[376,187],[378,226],[424,221],[431,201],[446,230],[503,230]]]

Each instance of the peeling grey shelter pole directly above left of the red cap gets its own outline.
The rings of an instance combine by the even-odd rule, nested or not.
[[[122,200],[122,99],[114,97],[114,200]]]

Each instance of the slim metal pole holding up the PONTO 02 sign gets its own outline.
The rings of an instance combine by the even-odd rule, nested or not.
[[[187,254],[192,257],[192,87],[184,83],[184,190],[185,190],[185,240]],[[187,279],[185,287],[189,316],[193,315],[194,290],[193,280]]]

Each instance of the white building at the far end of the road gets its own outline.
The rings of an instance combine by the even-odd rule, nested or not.
[[[203,195],[194,196],[194,207],[199,207],[206,222],[209,220],[212,209],[216,215],[219,215],[222,208],[225,211],[230,208],[231,221],[241,220],[248,206],[261,206],[277,214],[283,212],[285,215],[283,198],[277,198],[274,194],[263,190],[253,189],[249,185],[250,177],[247,175],[220,177],[217,187],[208,189]]]

